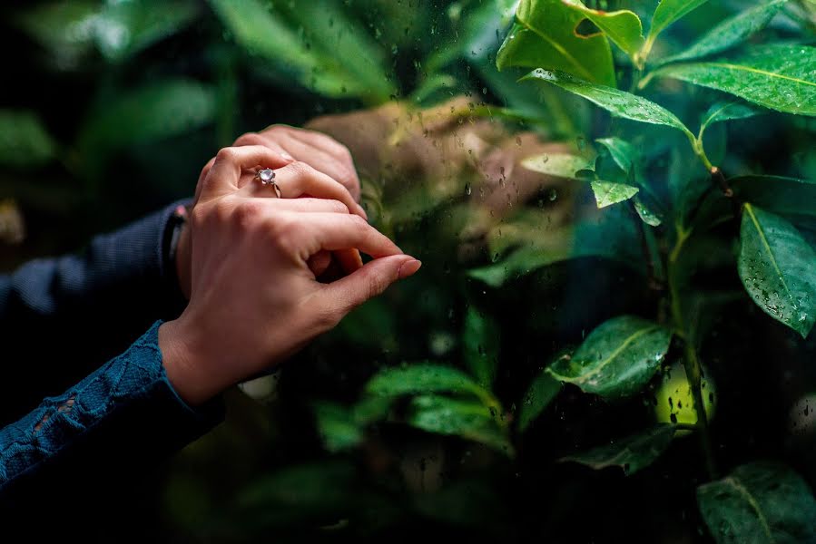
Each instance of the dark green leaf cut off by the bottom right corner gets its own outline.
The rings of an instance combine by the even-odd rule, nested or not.
[[[816,500],[801,476],[781,463],[739,466],[697,488],[697,505],[718,544],[816,541]]]

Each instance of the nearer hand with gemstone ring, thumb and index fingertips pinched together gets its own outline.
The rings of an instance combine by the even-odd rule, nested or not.
[[[280,363],[420,266],[350,214],[345,200],[258,198],[270,189],[239,187],[249,169],[278,158],[264,146],[223,149],[197,190],[190,304],[159,329],[168,378],[188,403],[202,403]],[[277,174],[284,196],[321,179],[301,163]],[[374,259],[349,276],[320,283],[310,258],[349,249]]]

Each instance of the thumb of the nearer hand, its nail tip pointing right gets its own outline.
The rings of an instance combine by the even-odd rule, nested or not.
[[[369,298],[380,295],[398,279],[412,276],[421,266],[422,263],[410,255],[375,258],[326,287],[329,305],[345,316]]]

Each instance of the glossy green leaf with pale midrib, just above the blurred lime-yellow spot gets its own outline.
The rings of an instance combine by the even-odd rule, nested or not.
[[[598,325],[568,360],[547,372],[586,393],[614,399],[644,388],[669,349],[672,333],[635,316],[618,316]]]

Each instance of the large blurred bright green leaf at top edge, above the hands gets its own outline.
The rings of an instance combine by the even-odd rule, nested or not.
[[[288,72],[280,74],[281,83],[293,76],[315,92],[370,102],[384,102],[393,92],[382,49],[339,5],[280,3],[270,10],[260,0],[210,4],[238,44]]]

